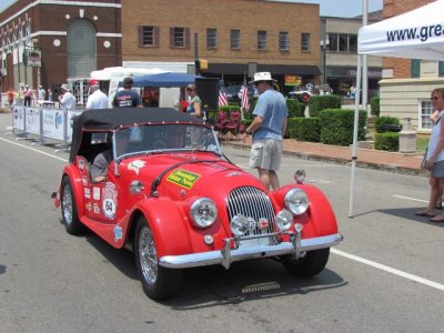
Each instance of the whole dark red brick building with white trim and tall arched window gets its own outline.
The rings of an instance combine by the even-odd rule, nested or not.
[[[12,3],[0,13],[1,91],[24,84],[54,91],[68,81],[84,103],[90,72],[122,62],[120,2]]]

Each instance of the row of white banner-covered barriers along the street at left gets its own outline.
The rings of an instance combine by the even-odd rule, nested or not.
[[[72,119],[82,111],[14,105],[12,132],[24,139],[36,139],[40,143],[50,139],[68,147],[72,141]]]

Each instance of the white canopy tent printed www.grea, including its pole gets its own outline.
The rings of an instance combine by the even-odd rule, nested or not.
[[[356,91],[361,90],[362,54],[444,60],[444,0],[362,27],[357,34]],[[355,100],[349,218],[353,216],[360,93]]]

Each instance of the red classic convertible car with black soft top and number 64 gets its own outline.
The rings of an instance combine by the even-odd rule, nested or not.
[[[98,181],[91,170],[103,152]],[[132,250],[144,292],[160,300],[179,291],[188,268],[274,258],[295,276],[320,273],[342,235],[303,176],[269,192],[229,161],[211,125],[173,109],[90,110],[73,121],[53,199],[69,233],[89,228]]]

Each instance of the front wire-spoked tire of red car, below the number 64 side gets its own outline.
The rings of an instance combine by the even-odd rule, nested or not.
[[[152,300],[164,300],[179,292],[182,272],[161,268],[154,239],[144,218],[138,220],[134,256],[144,293]]]

